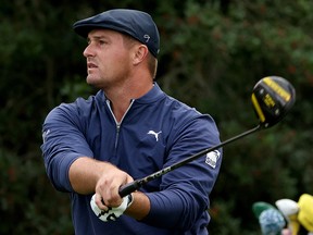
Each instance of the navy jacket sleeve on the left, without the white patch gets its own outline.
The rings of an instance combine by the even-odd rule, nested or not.
[[[71,164],[79,157],[93,157],[78,116],[75,104],[61,104],[42,125],[45,168],[52,185],[61,191],[73,191],[68,178]]]

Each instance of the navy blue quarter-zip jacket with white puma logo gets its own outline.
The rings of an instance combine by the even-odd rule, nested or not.
[[[79,98],[54,108],[43,123],[45,165],[55,188],[71,194],[75,234],[208,234],[209,195],[222,152],[216,165],[203,156],[140,188],[151,202],[142,221],[122,215],[104,223],[90,208],[91,195],[73,190],[68,169],[83,156],[111,162],[136,180],[220,144],[210,115],[165,95],[156,84],[132,101],[118,124],[108,102],[99,91],[88,100]]]

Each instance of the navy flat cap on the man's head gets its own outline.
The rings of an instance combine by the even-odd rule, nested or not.
[[[160,50],[160,35],[152,17],[142,11],[114,9],[92,17],[80,20],[73,25],[74,30],[87,38],[88,33],[96,28],[108,28],[130,35],[145,44],[156,58]]]

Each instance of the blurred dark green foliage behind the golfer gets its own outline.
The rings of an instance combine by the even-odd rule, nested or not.
[[[41,124],[85,84],[75,21],[113,8],[149,12],[161,34],[158,83],[210,113],[225,140],[258,124],[250,102],[264,76],[290,81],[297,101],[278,125],[224,148],[211,195],[213,235],[260,234],[251,206],[313,194],[312,0],[11,0],[0,5],[0,234],[73,234],[68,195],[53,189]]]

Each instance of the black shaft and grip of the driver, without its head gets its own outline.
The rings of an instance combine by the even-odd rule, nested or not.
[[[233,141],[235,141],[237,139],[240,139],[240,138],[242,138],[245,136],[248,136],[248,135],[250,135],[252,133],[255,133],[259,129],[261,129],[261,125],[258,125],[254,128],[251,128],[251,129],[249,129],[247,132],[243,132],[243,133],[241,133],[241,134],[239,134],[237,136],[234,136],[234,137],[227,139],[225,141],[222,141],[222,143],[220,143],[216,146],[213,146],[211,148],[206,148],[206,149],[204,149],[204,150],[202,150],[202,151],[200,151],[200,152],[198,152],[196,154],[192,154],[192,156],[190,156],[190,157],[188,157],[188,158],[186,158],[186,159],[184,159],[184,160],[181,160],[181,161],[179,161],[179,162],[177,162],[177,163],[175,163],[173,165],[170,165],[170,166],[164,168],[164,169],[162,169],[162,170],[160,170],[158,172],[154,172],[154,173],[152,173],[152,174],[150,174],[150,175],[148,175],[148,176],[146,176],[143,178],[136,180],[136,181],[134,181],[134,182],[132,182],[129,184],[123,185],[120,188],[118,194],[120,194],[121,197],[125,197],[126,195],[129,195],[133,191],[138,190],[142,185],[147,184],[148,182],[150,182],[150,181],[152,181],[154,178],[161,177],[162,175],[164,175],[164,174],[166,174],[166,173],[168,173],[168,172],[171,172],[171,171],[173,171],[173,170],[175,170],[177,168],[180,168],[180,166],[183,166],[183,165],[185,165],[185,164],[187,164],[187,163],[200,158],[201,156],[206,154],[208,152],[214,151],[214,150],[216,150],[216,149],[218,149],[218,148],[221,148],[221,147],[223,147],[223,146],[225,146],[225,145],[227,145],[229,143],[233,143]]]

